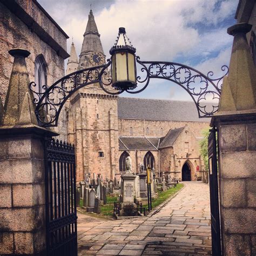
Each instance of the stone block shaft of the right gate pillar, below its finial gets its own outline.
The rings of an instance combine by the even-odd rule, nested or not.
[[[232,119],[240,119],[239,116]],[[256,123],[221,122],[220,212],[225,255],[256,253]]]

